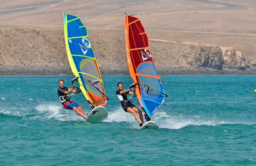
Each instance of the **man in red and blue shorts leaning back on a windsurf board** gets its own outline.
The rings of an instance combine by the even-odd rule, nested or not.
[[[83,117],[84,119],[86,119],[86,115],[83,112],[83,109],[76,104],[75,102],[71,101],[69,99],[69,93],[71,92],[81,92],[81,90],[75,90],[74,88],[76,87],[75,84],[73,84],[72,88],[68,88],[66,86],[64,86],[64,80],[59,80],[59,89],[57,90],[58,95],[59,95],[59,99],[61,100],[61,103],[63,105],[63,107],[65,109],[69,109],[69,110],[73,110],[76,112],[77,115]]]

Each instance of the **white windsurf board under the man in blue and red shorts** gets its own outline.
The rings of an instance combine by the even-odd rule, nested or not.
[[[93,110],[91,110],[91,112],[88,114],[85,121],[89,123],[97,123],[106,119],[107,116],[108,116],[107,110],[102,106],[98,106],[98,107],[95,107]]]

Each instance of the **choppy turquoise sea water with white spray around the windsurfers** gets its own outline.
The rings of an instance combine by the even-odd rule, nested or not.
[[[1,165],[256,164],[256,76],[161,78],[168,98],[152,118],[160,128],[139,130],[115,95],[129,76],[103,76],[109,115],[99,124],[62,108],[58,80],[71,87],[72,76],[0,76]],[[72,100],[90,112],[82,94]]]

